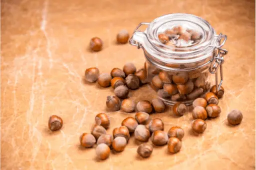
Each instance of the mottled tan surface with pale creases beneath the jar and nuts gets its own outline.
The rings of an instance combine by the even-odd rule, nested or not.
[[[2,0],[1,1],[1,169],[2,170],[252,170],[255,169],[255,2],[253,0]],[[208,20],[228,36],[224,63],[224,98],[220,117],[207,120],[203,135],[190,131],[191,114],[176,118],[170,109],[162,118],[165,131],[173,125],[185,131],[182,149],[167,154],[155,147],[149,159],[136,156],[132,138],[125,151],[97,162],[93,149],[79,147],[79,135],[89,132],[94,116],[105,110],[111,88],[83,83],[84,70],[122,68],[131,61],[143,66],[142,50],[116,45],[120,29],[131,34],[139,22],[175,12]],[[104,41],[97,53],[88,50],[92,36]],[[134,99],[154,92],[144,86]],[[243,113],[239,126],[227,125],[231,109]],[[56,133],[48,117],[64,121]],[[134,114],[108,113],[111,133]]]

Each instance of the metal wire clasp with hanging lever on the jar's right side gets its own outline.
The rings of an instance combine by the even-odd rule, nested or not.
[[[220,43],[221,39],[223,39],[222,43]],[[224,63],[224,55],[227,54],[227,50],[226,49],[222,49],[221,47],[224,45],[225,41],[226,41],[227,36],[223,35],[222,33],[220,33],[217,37],[216,40],[216,44],[219,44],[218,46],[215,46],[214,48],[214,55],[211,59],[211,64],[210,64],[210,68],[209,68],[209,72],[211,74],[215,74],[215,84],[216,84],[216,91],[218,91],[220,89],[220,86],[223,82],[223,69],[222,69],[222,64]],[[220,71],[220,82],[218,84],[218,70],[219,67],[219,71]]]

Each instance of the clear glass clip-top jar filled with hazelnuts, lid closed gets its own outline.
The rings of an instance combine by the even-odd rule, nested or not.
[[[141,25],[147,25],[139,31]],[[147,82],[166,104],[177,101],[191,104],[211,87],[215,74],[217,90],[223,81],[222,63],[227,50],[222,49],[226,35],[217,35],[204,19],[185,13],[166,14],[151,23],[141,22],[129,43],[142,48]],[[218,84],[217,70],[220,70]]]

